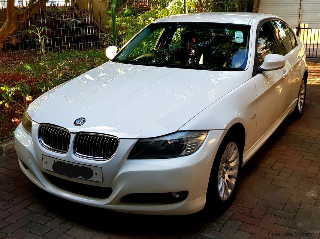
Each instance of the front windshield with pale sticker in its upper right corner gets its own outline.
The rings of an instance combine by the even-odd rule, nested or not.
[[[250,26],[223,23],[154,23],[112,61],[188,69],[243,70]]]

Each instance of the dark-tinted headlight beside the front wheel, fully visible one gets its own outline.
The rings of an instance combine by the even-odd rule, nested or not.
[[[203,143],[207,131],[183,131],[154,139],[141,139],[128,159],[172,158],[192,154]]]

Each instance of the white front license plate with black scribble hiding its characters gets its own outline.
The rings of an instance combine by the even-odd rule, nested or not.
[[[42,155],[43,168],[67,177],[102,182],[102,168]]]

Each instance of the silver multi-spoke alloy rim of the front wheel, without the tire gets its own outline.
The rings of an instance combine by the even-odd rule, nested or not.
[[[239,150],[235,142],[230,142],[225,148],[218,172],[218,194],[225,201],[236,185],[239,170]]]

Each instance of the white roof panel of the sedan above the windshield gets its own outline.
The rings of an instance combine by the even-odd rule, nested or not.
[[[264,18],[279,17],[270,14],[253,12],[201,12],[171,15],[164,18],[160,18],[155,22],[218,22],[249,25],[250,20],[252,20],[252,18],[262,20]]]

